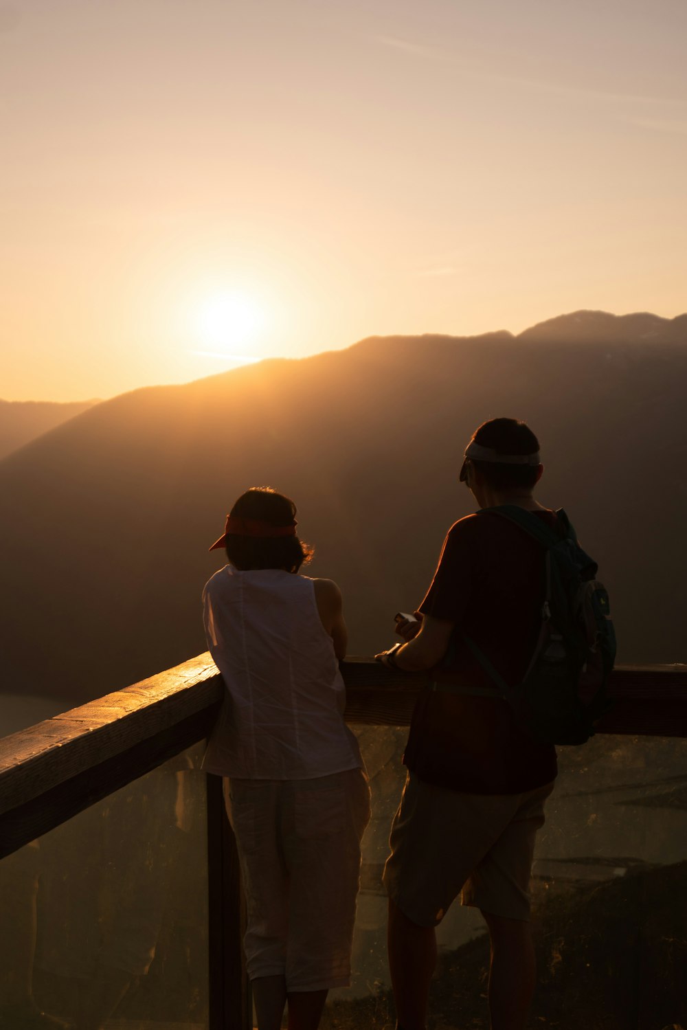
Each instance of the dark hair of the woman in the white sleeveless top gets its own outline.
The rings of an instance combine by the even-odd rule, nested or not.
[[[296,505],[290,497],[277,493],[271,486],[251,486],[232,508],[238,518],[259,519],[271,525],[289,525],[296,517]],[[284,569],[297,573],[310,561],[314,548],[298,537],[227,537],[227,557],[235,569]]]

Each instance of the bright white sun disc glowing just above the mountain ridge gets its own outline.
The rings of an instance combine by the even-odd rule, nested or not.
[[[204,353],[231,360],[257,360],[268,318],[263,305],[249,294],[228,290],[198,302],[193,314],[194,336]],[[200,352],[200,351],[199,351]]]

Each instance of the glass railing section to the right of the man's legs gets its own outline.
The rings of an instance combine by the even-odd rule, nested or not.
[[[687,1026],[687,742],[559,750],[533,868],[536,1025]]]

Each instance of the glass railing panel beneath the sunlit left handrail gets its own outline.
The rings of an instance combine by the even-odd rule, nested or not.
[[[206,1030],[202,750],[0,862],[0,1027]]]

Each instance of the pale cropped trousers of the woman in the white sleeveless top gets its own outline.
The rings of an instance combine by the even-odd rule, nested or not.
[[[248,976],[283,975],[287,991],[347,987],[367,776],[226,780],[225,796],[246,895]]]

